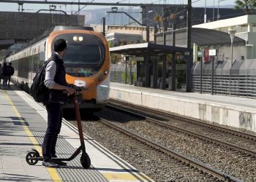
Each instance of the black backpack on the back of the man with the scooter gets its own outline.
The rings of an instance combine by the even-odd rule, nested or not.
[[[30,95],[37,101],[42,103],[45,101],[45,97],[49,94],[48,87],[45,86],[45,68],[50,61],[46,61],[44,66],[39,68],[36,76],[34,76],[33,83],[30,87]]]

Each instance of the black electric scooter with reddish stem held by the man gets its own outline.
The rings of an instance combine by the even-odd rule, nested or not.
[[[72,95],[73,97],[73,103],[75,106],[75,117],[78,122],[78,132],[79,132],[79,138],[80,138],[80,147],[76,149],[76,151],[72,154],[71,157],[69,158],[58,158],[58,157],[52,157],[51,159],[54,161],[71,161],[72,159],[75,159],[75,157],[80,154],[82,151],[82,156],[80,158],[81,165],[85,169],[89,169],[91,166],[91,159],[89,155],[86,153],[86,146],[83,140],[83,129],[82,129],[82,124],[81,124],[81,118],[80,118],[80,111],[79,111],[79,106],[78,106],[78,98],[79,98],[79,93]],[[31,149],[28,151],[26,154],[26,162],[29,165],[36,165],[38,161],[42,161],[42,157],[40,157],[39,152],[36,149]]]

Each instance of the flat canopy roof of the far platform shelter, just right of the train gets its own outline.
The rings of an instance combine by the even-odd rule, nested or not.
[[[162,53],[170,52],[187,52],[188,49],[184,47],[173,47],[162,44],[151,44],[151,43],[142,43],[142,44],[128,44],[118,47],[111,47],[111,53],[117,53],[122,55],[135,55],[135,56],[144,56],[144,55],[160,55]]]

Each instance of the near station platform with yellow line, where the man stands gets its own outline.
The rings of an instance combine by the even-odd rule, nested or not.
[[[86,134],[89,170],[81,166],[80,155],[66,167],[42,167],[40,161],[28,165],[27,151],[37,149],[42,155],[46,119],[45,108],[26,92],[14,85],[0,90],[0,181],[152,181]],[[69,157],[79,146],[77,129],[64,119],[56,145],[58,156]]]

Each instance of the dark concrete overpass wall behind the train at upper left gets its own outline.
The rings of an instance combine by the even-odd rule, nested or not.
[[[0,12],[0,39],[31,40],[54,25],[84,25],[84,16]]]

